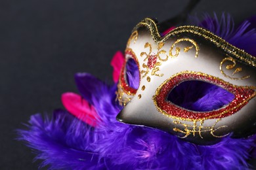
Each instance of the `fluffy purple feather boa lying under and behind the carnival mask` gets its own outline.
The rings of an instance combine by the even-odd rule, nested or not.
[[[212,23],[205,20],[204,25],[207,26],[204,27],[221,25]],[[242,28],[245,30],[247,26]],[[245,32],[236,31],[238,32],[238,38],[246,35]],[[251,34],[255,36],[255,30],[250,32]],[[232,37],[230,39],[232,40]],[[239,44],[231,40],[230,43]],[[255,40],[248,37],[249,42]],[[43,118],[40,114],[33,115],[28,129],[18,132],[20,140],[26,141],[37,153],[35,159],[43,160],[41,167],[49,165],[51,169],[247,169],[250,168],[247,161],[256,156],[256,135],[247,139],[224,137],[217,144],[200,146],[157,129],[117,122],[116,115],[122,108],[116,102],[116,84],[109,86],[87,73],[75,75],[75,81],[79,92],[95,107],[101,121],[97,127],[91,127],[65,110],[54,111],[51,118]],[[207,94],[209,95],[209,92]],[[208,97],[203,99],[203,102],[210,103],[212,99],[213,97]]]

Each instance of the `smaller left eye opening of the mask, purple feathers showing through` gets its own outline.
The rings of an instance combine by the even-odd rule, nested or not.
[[[133,58],[129,58],[125,64],[125,78],[127,85],[138,89],[140,85],[139,67]]]

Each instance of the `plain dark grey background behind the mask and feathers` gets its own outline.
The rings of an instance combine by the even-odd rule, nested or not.
[[[77,92],[74,74],[112,79],[110,61],[124,50],[145,17],[161,22],[188,0],[1,0],[0,169],[37,169],[31,150],[16,141],[30,115],[62,108],[60,95]],[[236,23],[255,14],[256,1],[202,0],[192,14],[228,12]]]

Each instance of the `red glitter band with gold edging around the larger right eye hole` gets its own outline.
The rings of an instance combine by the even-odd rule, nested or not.
[[[205,82],[216,84],[217,86],[221,86],[228,90],[228,92],[233,93],[235,97],[229,105],[218,110],[195,112],[182,109],[167,101],[166,98],[175,86],[186,80],[203,80]],[[255,86],[235,86],[228,82],[224,82],[224,80],[221,80],[220,78],[205,73],[183,71],[165,80],[165,82],[163,82],[163,84],[156,90],[156,94],[153,96],[153,101],[159,112],[177,120],[199,121],[207,120],[209,118],[224,118],[242,109],[250,99],[255,97],[255,88]]]

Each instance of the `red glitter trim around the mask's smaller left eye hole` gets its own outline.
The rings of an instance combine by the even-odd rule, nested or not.
[[[139,68],[139,61],[138,61],[138,59],[136,58],[134,52],[131,49],[125,50],[125,56],[126,55],[130,55],[135,60],[135,62],[138,65],[138,68]],[[121,86],[123,92],[125,92],[125,93],[127,93],[129,95],[135,95],[135,93],[137,92],[137,89],[130,87],[129,84],[127,84],[127,82],[126,82],[126,78],[125,78],[125,65],[126,65],[126,62],[123,64],[123,68],[121,70],[120,86]]]

